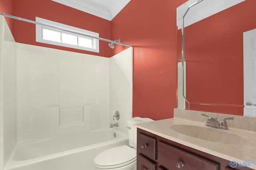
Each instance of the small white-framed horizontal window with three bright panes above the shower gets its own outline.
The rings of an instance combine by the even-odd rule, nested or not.
[[[58,27],[60,29],[69,30],[72,32],[99,37],[99,33],[87,31],[70,25],[45,20],[36,17],[36,22],[44,23],[50,26]],[[63,47],[70,47],[74,49],[81,49],[86,51],[93,51],[99,53],[99,40],[90,38],[75,33],[69,33],[59,29],[53,29],[52,27],[46,27],[43,25],[36,25],[36,42],[46,43],[52,45],[58,45]]]

